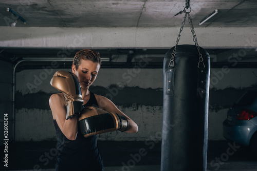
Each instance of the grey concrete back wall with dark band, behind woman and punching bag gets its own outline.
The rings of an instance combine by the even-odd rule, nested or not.
[[[48,99],[56,70],[23,70],[16,74],[15,140],[56,140]],[[221,140],[229,107],[247,88],[256,87],[257,69],[211,69],[208,139]],[[99,135],[99,140],[161,140],[162,69],[100,69],[90,91],[111,99],[138,124],[137,134]]]

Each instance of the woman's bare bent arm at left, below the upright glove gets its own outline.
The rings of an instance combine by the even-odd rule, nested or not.
[[[53,119],[56,119],[60,130],[69,140],[75,140],[78,133],[78,119],[71,117],[66,120],[66,105],[63,93],[53,94],[49,99]]]

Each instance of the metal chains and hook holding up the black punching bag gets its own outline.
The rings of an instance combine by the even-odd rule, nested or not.
[[[186,8],[187,8],[187,9],[190,9],[190,11],[187,12],[187,11],[186,11]],[[174,16],[176,16],[176,15],[178,15],[178,14],[182,14],[183,12],[185,12],[186,14],[185,14],[185,16],[184,16],[184,19],[183,19],[183,21],[182,21],[182,25],[181,25],[180,30],[179,30],[179,33],[178,33],[178,37],[177,37],[177,41],[176,41],[176,46],[175,46],[175,48],[173,49],[173,52],[172,52],[172,54],[171,54],[171,59],[170,59],[169,67],[171,66],[171,63],[172,63],[172,67],[174,67],[174,59],[175,59],[176,48],[177,48],[178,41],[179,41],[180,36],[181,36],[181,32],[182,32],[182,30],[183,30],[183,28],[184,28],[184,26],[185,26],[187,16],[188,16],[188,21],[189,21],[189,23],[191,24],[190,29],[191,29],[191,32],[192,32],[192,34],[193,34],[193,41],[194,41],[195,46],[196,46],[196,48],[197,48],[197,50],[198,50],[198,53],[199,53],[199,61],[198,61],[198,66],[197,66],[197,67],[199,68],[199,64],[200,64],[200,62],[202,62],[202,63],[203,63],[203,66],[204,66],[204,68],[205,68],[204,58],[203,58],[203,56],[202,56],[201,53],[200,53],[200,47],[199,47],[198,42],[197,42],[197,38],[196,38],[195,31],[194,31],[194,26],[193,26],[192,18],[191,18],[190,14],[189,14],[189,13],[191,12],[191,7],[189,6],[189,0],[186,0],[186,7],[184,8],[184,10],[178,12],[178,13],[175,14]]]

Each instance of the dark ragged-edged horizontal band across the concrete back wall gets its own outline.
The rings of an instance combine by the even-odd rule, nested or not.
[[[209,96],[209,111],[218,112],[219,110],[230,108],[235,99],[240,98],[248,89],[257,88],[249,87],[245,89],[226,88],[224,90],[216,90],[212,88]],[[137,105],[146,106],[162,106],[163,89],[143,89],[139,87],[118,88],[113,84],[107,88],[101,86],[90,86],[89,91],[105,96],[112,100],[116,105],[122,105],[130,108]],[[58,93],[58,92],[56,92]],[[23,95],[16,92],[16,109],[43,109],[50,110],[48,100],[53,93],[38,92]]]

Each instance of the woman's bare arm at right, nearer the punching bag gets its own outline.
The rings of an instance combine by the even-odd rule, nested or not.
[[[137,130],[138,130],[137,124],[131,118],[126,116],[124,113],[122,113],[111,100],[109,100],[104,96],[99,96],[99,95],[95,95],[95,96],[100,109],[103,109],[107,112],[114,112],[119,115],[123,115],[127,118],[128,128],[125,131],[126,133],[137,133]]]

